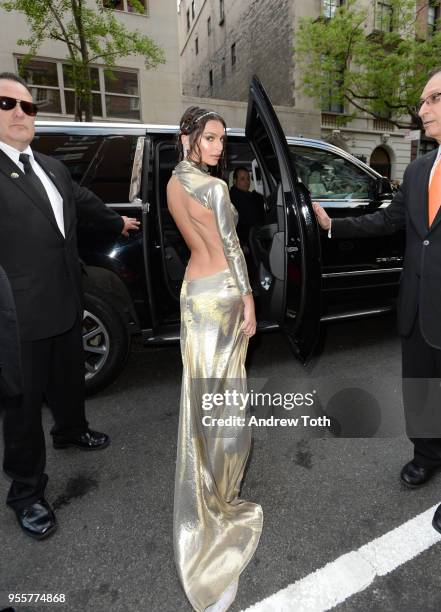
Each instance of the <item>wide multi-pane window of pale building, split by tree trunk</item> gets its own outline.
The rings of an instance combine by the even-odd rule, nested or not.
[[[20,68],[22,58],[17,58]],[[138,73],[103,66],[90,70],[92,105],[95,117],[141,119]],[[74,115],[75,92],[72,68],[63,62],[33,59],[24,78],[38,103],[40,112]]]

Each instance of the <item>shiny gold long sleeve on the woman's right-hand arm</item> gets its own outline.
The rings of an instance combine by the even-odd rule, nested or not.
[[[236,233],[230,195],[227,185],[223,181],[216,182],[211,188],[210,204],[214,212],[230,272],[236,281],[240,293],[247,295],[251,293],[247,265]]]

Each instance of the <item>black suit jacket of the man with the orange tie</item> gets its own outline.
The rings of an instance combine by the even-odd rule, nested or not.
[[[418,310],[426,342],[441,349],[441,210],[428,224],[428,186],[437,150],[409,164],[391,204],[362,217],[332,220],[337,238],[392,234],[406,228],[398,297],[398,331],[407,336]]]

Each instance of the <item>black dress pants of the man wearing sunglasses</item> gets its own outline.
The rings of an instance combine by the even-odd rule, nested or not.
[[[84,413],[84,352],[81,321],[58,336],[21,342],[23,394],[5,400],[3,469],[12,478],[7,504],[18,510],[43,496],[46,449],[43,400],[54,416],[53,434],[87,428]]]

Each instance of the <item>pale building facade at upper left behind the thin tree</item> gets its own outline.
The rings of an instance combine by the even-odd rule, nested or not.
[[[147,70],[141,57],[126,57],[118,60],[110,76],[97,62],[91,73],[94,120],[175,124],[182,111],[176,1],[142,0],[143,13],[135,12],[130,0],[107,4],[128,29],[150,36],[163,49],[166,63]],[[1,71],[17,71],[27,50],[17,40],[28,36],[22,14],[0,9]],[[66,58],[63,43],[46,41],[28,64],[26,79],[39,103],[40,119],[73,119],[74,93]]]

